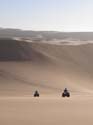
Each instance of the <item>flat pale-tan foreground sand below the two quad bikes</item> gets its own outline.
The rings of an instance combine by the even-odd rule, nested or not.
[[[92,125],[93,96],[0,98],[1,125]]]

